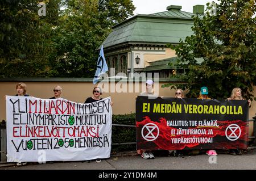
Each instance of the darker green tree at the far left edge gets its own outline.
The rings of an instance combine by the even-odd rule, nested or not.
[[[52,26],[59,0],[49,0],[46,17],[34,0],[0,2],[0,77],[45,77],[52,51]],[[52,8],[52,9],[51,9]]]

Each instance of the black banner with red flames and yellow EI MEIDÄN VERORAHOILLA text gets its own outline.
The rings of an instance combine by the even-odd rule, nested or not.
[[[248,111],[247,100],[138,96],[137,149],[246,149]]]

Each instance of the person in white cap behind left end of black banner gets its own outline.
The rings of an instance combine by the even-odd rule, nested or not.
[[[154,95],[154,81],[148,79],[146,81],[146,91],[141,92],[140,96],[152,96]],[[137,150],[137,153],[144,159],[154,159],[155,156],[152,150]]]

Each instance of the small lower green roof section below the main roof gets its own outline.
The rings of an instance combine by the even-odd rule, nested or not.
[[[172,65],[177,64],[177,57],[166,58],[163,60],[158,60],[155,62],[150,62],[150,65],[143,69],[143,71],[155,71],[155,70],[166,70],[171,68],[176,68],[176,66],[168,65],[170,62]]]

